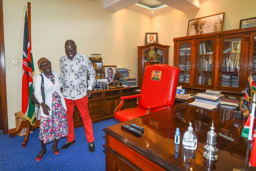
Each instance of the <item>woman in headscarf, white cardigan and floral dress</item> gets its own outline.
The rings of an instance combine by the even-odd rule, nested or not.
[[[46,153],[46,144],[53,141],[52,150],[54,154],[59,154],[57,147],[60,138],[68,135],[68,125],[66,123],[66,103],[60,92],[60,82],[58,74],[52,72],[51,62],[47,58],[38,60],[38,66],[42,70],[42,77],[39,75],[35,82],[35,97],[40,103],[40,129],[39,139],[42,149],[35,160],[40,161]],[[43,79],[44,91],[41,91]],[[45,100],[42,92],[45,94]]]

